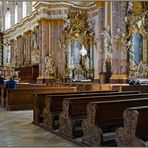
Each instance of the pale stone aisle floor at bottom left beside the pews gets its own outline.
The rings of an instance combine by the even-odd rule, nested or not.
[[[32,111],[5,111],[0,108],[0,146],[73,147],[78,146],[33,125]]]

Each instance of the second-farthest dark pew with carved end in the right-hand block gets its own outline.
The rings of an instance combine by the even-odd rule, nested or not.
[[[59,114],[63,111],[62,102],[65,98],[80,98],[80,97],[93,97],[93,96],[107,96],[107,95],[119,95],[119,94],[133,94],[139,92],[99,92],[99,93],[79,93],[79,94],[64,94],[47,96],[46,106],[43,110],[43,124],[44,126],[55,129],[59,127]],[[81,107],[80,107],[81,108]],[[40,112],[41,113],[41,112]],[[40,116],[42,117],[42,116]]]

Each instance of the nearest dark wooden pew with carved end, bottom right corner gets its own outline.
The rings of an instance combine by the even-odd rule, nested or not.
[[[148,106],[127,108],[123,113],[124,127],[115,132],[120,147],[148,146]]]

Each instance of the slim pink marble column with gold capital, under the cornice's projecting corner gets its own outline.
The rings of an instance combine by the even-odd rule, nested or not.
[[[41,18],[39,21],[39,50],[40,50],[40,63],[39,63],[39,77],[44,78],[45,64],[44,59],[49,55],[49,20]]]

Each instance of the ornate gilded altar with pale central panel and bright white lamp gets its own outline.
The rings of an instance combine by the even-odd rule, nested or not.
[[[87,11],[73,8],[64,23],[65,79],[83,81],[94,79],[93,24],[88,21]]]

